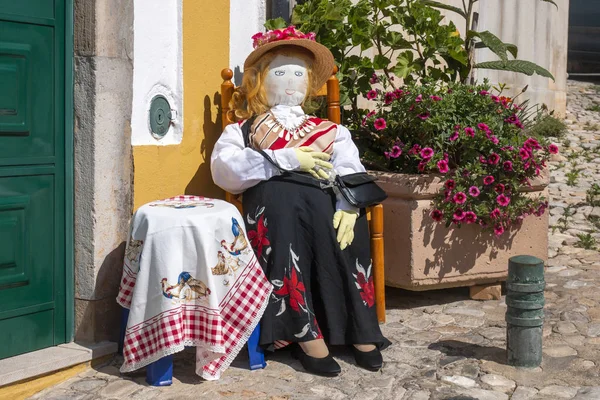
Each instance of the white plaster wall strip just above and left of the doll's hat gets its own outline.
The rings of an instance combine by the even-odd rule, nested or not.
[[[239,85],[242,83],[244,60],[254,50],[251,37],[265,31],[267,0],[230,1],[229,68],[234,72],[234,83]]]

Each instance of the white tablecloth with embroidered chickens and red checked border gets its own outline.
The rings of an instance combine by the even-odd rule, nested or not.
[[[272,286],[232,204],[179,196],[134,215],[117,302],[130,310],[121,372],[196,346],[218,379],[260,321]]]

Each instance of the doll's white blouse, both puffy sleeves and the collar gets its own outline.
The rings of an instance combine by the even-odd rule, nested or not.
[[[271,112],[286,127],[297,126],[305,115],[300,106],[278,105],[271,108]],[[292,148],[265,150],[265,152],[282,169],[296,170],[300,168],[296,152]],[[342,125],[338,125],[333,142],[331,163],[335,172],[340,176],[365,172],[350,131]],[[244,137],[239,124],[230,124],[225,127],[223,134],[215,144],[210,167],[213,181],[222,189],[233,194],[242,193],[259,182],[280,174],[260,153],[244,146]],[[346,199],[340,197],[338,196],[336,202],[337,210],[358,211]]]

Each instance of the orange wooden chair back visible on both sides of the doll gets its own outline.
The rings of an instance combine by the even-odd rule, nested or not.
[[[331,77],[327,80],[327,83],[317,92],[317,96],[323,96],[327,98],[327,119],[336,124],[342,122],[342,115],[340,110],[340,82],[335,76],[338,68],[334,67]],[[221,78],[223,83],[221,84],[221,121],[223,129],[229,124],[237,122],[235,120],[235,114],[229,107],[233,93],[237,90],[231,79],[233,78],[233,71],[229,68],[225,68],[221,71]],[[242,212],[242,202],[239,196],[231,193],[226,193],[225,198],[228,202],[234,204],[240,212]]]

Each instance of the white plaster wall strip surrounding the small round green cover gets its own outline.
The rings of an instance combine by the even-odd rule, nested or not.
[[[134,62],[131,142],[173,145],[183,139],[182,0],[134,0]],[[152,98],[163,95],[175,121],[160,140],[152,136]]]

